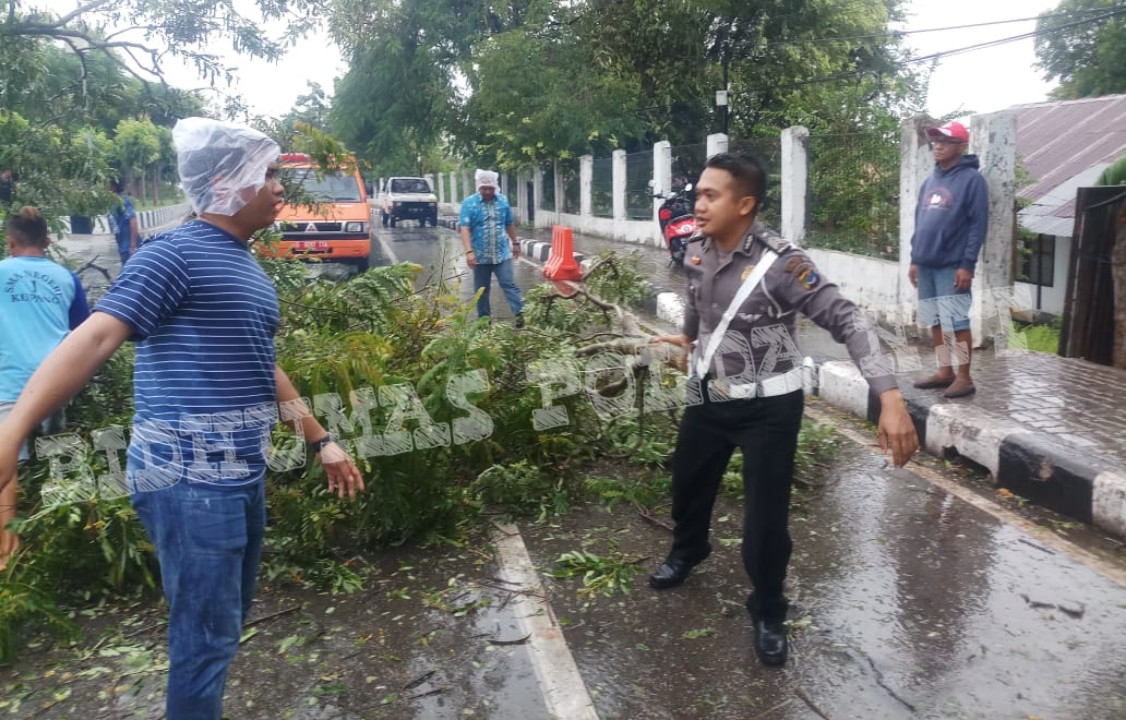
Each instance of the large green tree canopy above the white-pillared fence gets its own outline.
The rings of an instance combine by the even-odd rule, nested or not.
[[[377,167],[443,145],[501,168],[656,140],[868,127],[921,105],[902,0],[339,0],[331,126]]]

